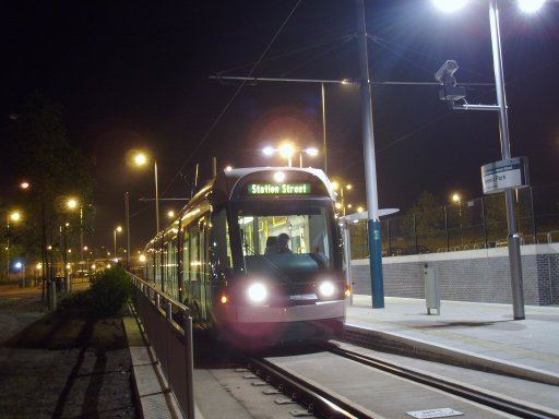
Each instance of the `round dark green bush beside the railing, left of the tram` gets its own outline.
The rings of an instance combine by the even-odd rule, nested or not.
[[[126,271],[112,267],[92,278],[92,314],[98,318],[119,314],[132,294],[132,284]]]

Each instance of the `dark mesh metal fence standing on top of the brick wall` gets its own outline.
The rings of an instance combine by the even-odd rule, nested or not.
[[[516,224],[522,244],[559,241],[559,185],[516,191]],[[367,222],[352,224],[352,259],[369,255]],[[416,206],[405,214],[381,219],[382,254],[449,252],[507,246],[508,225],[503,194],[455,204]]]

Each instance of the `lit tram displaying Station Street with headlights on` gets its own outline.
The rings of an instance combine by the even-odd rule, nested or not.
[[[222,171],[147,243],[146,279],[234,344],[335,336],[347,290],[334,199],[319,169]]]

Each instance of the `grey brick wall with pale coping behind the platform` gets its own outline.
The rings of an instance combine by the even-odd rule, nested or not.
[[[559,243],[523,246],[521,256],[524,303],[559,304]],[[384,258],[384,295],[425,298],[425,264],[443,300],[512,303],[507,248]],[[369,272],[368,259],[352,261],[355,294],[371,294]]]

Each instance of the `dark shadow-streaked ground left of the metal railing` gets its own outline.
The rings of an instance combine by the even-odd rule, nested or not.
[[[0,418],[138,417],[122,319],[43,307],[40,288],[0,285]]]

